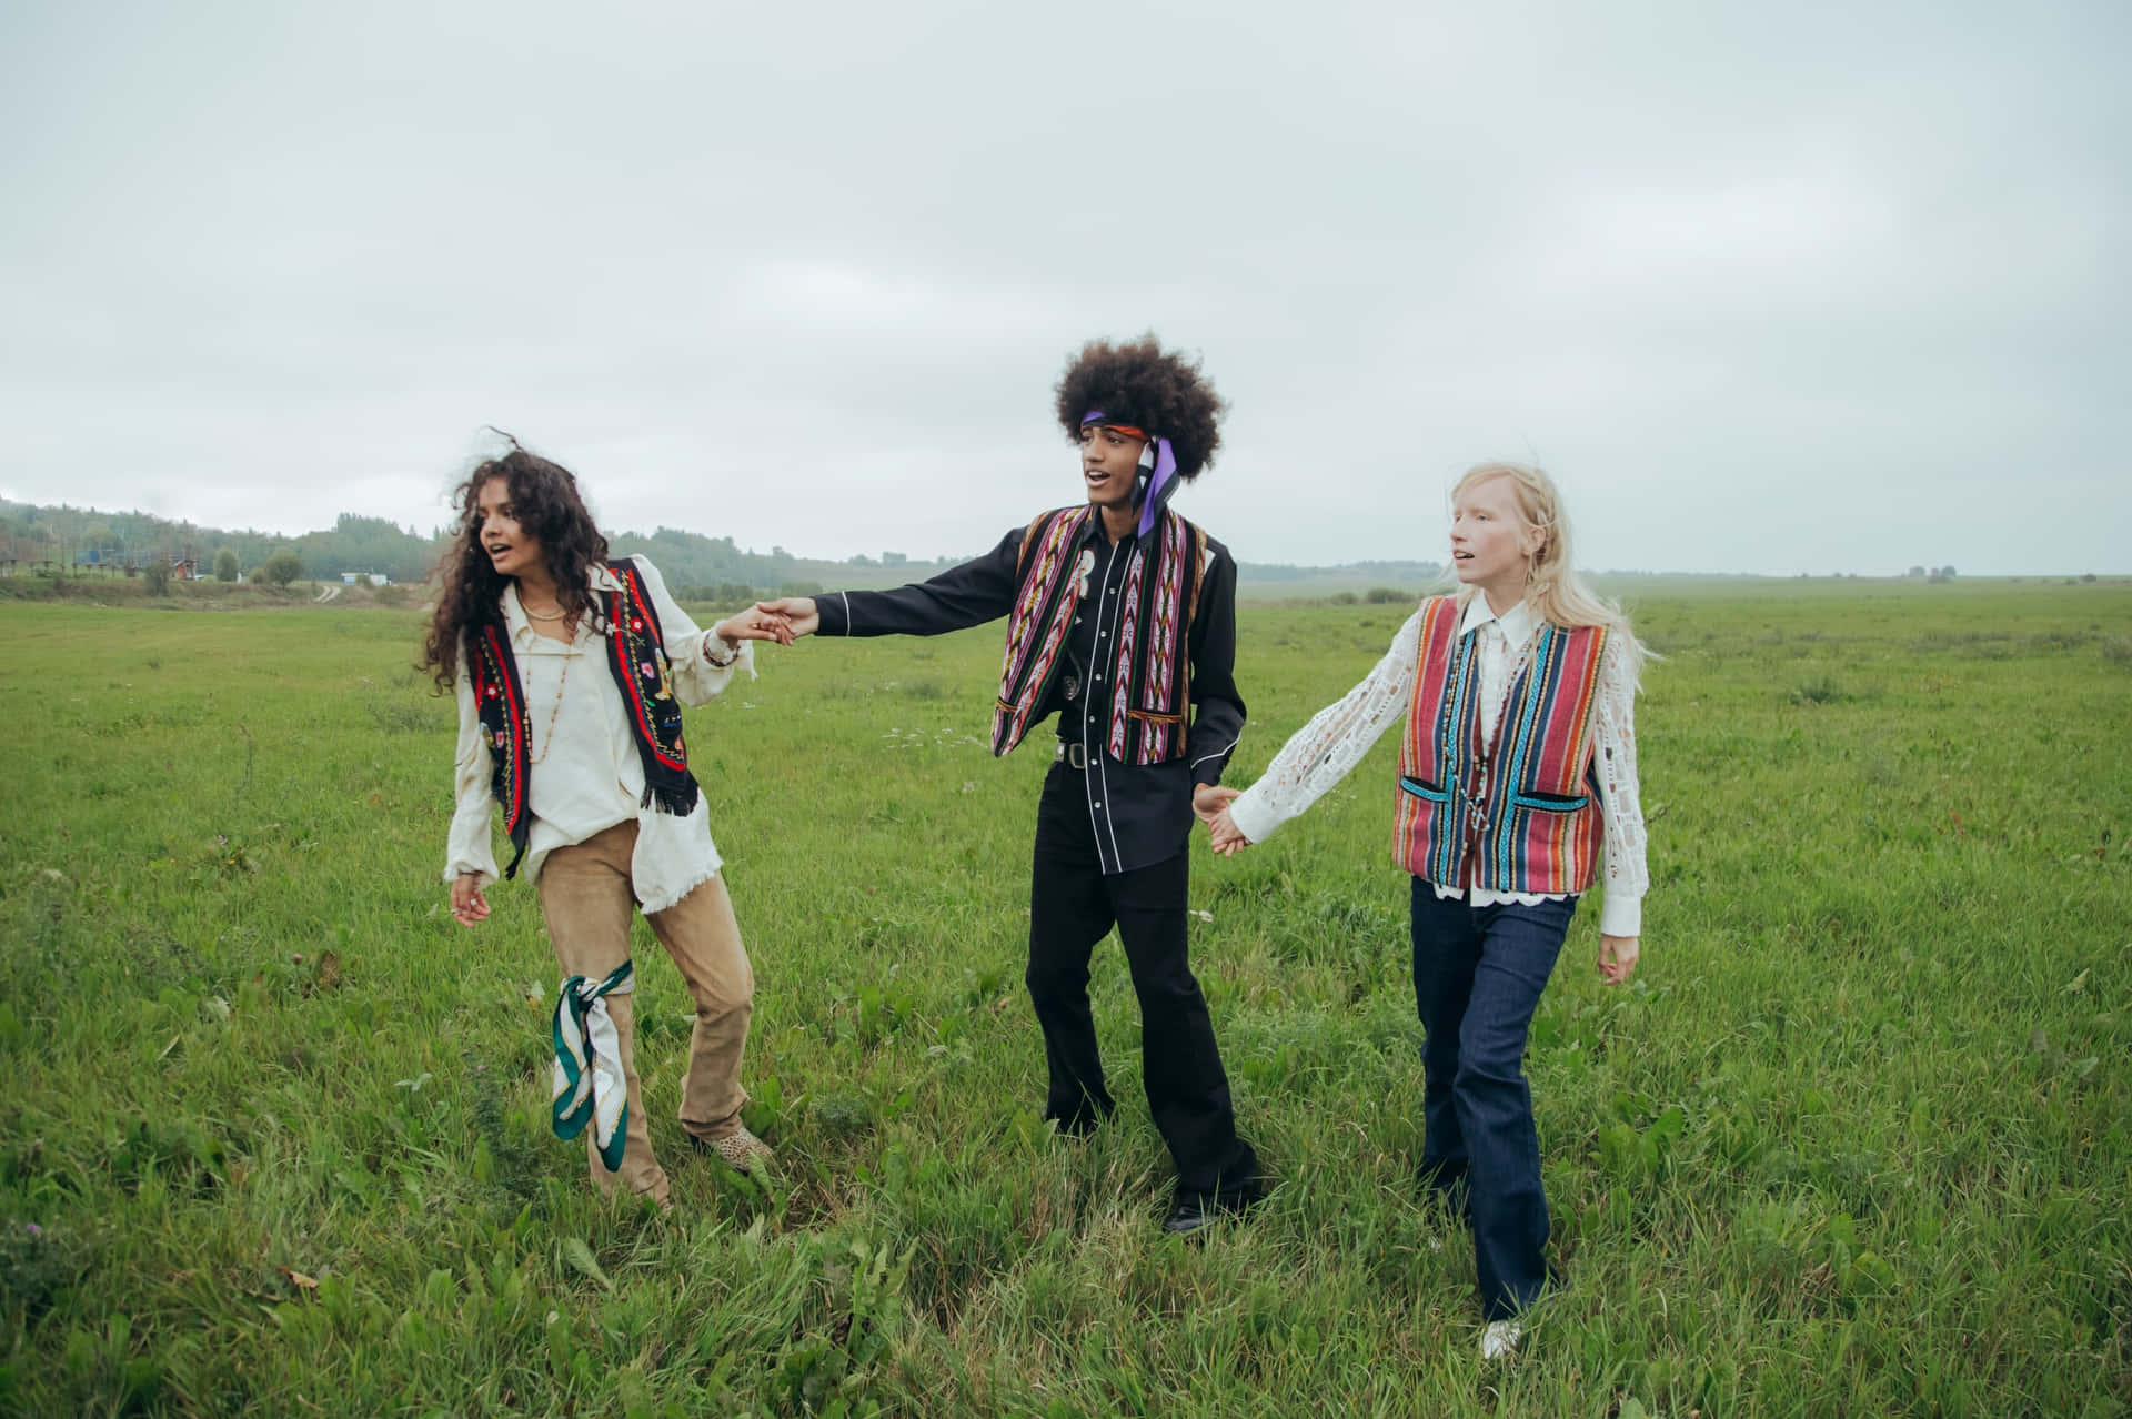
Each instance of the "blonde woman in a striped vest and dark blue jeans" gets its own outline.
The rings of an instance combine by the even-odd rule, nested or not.
[[[1599,978],[1637,961],[1644,818],[1633,701],[1644,650],[1569,562],[1539,469],[1484,462],[1452,490],[1456,594],[1431,597],[1362,684],[1318,712],[1209,825],[1264,842],[1401,716],[1394,852],[1414,874],[1422,1176],[1473,1223],[1482,1355],[1518,1344],[1548,1283],[1548,1204],[1524,1038],[1578,897],[1605,882]]]

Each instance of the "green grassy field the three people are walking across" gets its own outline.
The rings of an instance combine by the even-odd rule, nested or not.
[[[1567,1287],[1477,1357],[1414,1189],[1394,737],[1281,837],[1194,844],[1194,961],[1279,1189],[1162,1238],[1119,1119],[1038,1119],[1045,754],[996,629],[806,641],[691,712],[759,976],[757,1189],[674,1119],[672,1219],[546,1131],[533,893],[446,912],[450,701],[405,609],[0,603],[0,1408],[584,1415],[2132,1410],[2132,586],[1657,586],[1633,986],[1580,914],[1533,1029]],[[1247,607],[1249,778],[1401,605]],[[1045,739],[1038,735],[1036,748]]]

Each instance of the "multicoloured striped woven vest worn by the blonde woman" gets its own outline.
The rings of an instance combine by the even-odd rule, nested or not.
[[[1458,616],[1454,597],[1422,611],[1392,850],[1426,882],[1582,893],[1599,857],[1593,699],[1608,631],[1544,624],[1482,746],[1480,654]]]

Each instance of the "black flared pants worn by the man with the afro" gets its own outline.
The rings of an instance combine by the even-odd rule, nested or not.
[[[1096,865],[1081,776],[1057,767],[1045,780],[1030,869],[1028,969],[1051,1067],[1045,1116],[1062,1129],[1083,1131],[1117,1108],[1102,1082],[1096,1021],[1087,1006],[1089,952],[1115,925],[1141,997],[1147,1108],[1177,1161],[1177,1191],[1254,1197],[1260,1187],[1258,1155],[1237,1138],[1213,1018],[1185,955],[1190,863],[1179,848],[1153,867],[1104,876]]]

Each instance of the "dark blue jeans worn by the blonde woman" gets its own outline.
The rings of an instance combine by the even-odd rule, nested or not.
[[[1578,901],[1469,906],[1414,880],[1414,1004],[1422,1014],[1422,1174],[1473,1221],[1490,1321],[1548,1285],[1548,1200],[1524,1082],[1524,1035]]]

